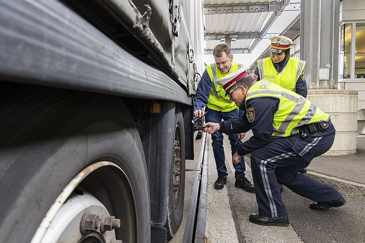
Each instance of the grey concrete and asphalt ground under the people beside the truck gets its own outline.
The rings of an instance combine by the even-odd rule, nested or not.
[[[247,134],[245,139],[248,139]],[[311,202],[284,187],[283,201],[288,210],[290,226],[267,227],[249,222],[250,213],[257,212],[255,194],[248,193],[234,186],[234,169],[231,164],[230,149],[225,138],[226,166],[228,169],[227,186],[222,190],[214,189],[217,179],[211,138],[208,143],[208,184],[205,242],[209,243],[365,243],[365,135],[358,135],[357,153],[344,156],[319,156],[308,166],[307,176],[338,189],[347,203],[328,212],[317,212],[309,209]],[[200,148],[201,140],[196,141]],[[199,149],[196,149],[199,152]],[[198,158],[199,155],[195,157]],[[246,176],[252,182],[250,157],[245,156]],[[191,168],[196,169],[195,161]],[[194,172],[195,173],[195,172]],[[189,188],[193,181],[189,178],[192,171],[186,172],[185,210],[189,209]],[[190,178],[193,178],[190,176]],[[191,194],[191,193],[190,193]],[[191,223],[191,222],[187,222]],[[186,224],[184,213],[183,225]],[[170,243],[181,243],[184,227]],[[194,242],[194,241],[193,241]]]

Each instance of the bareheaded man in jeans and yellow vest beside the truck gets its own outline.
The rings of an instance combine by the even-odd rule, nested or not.
[[[206,122],[238,121],[238,107],[229,100],[225,95],[225,91],[217,84],[217,79],[220,79],[239,68],[242,64],[233,62],[231,48],[227,44],[219,44],[213,50],[215,63],[206,67],[203,76],[199,82],[196,95],[194,96],[194,117],[202,117],[205,115]],[[205,111],[204,111],[205,107]],[[230,134],[232,155],[237,148],[242,145],[240,141],[245,136],[244,133]],[[212,146],[214,158],[216,160],[218,178],[214,183],[215,189],[222,189],[227,182],[227,168],[224,162],[223,150],[223,134],[215,132],[212,134]],[[255,188],[251,182],[245,177],[245,161],[242,157],[240,163],[233,164],[235,168],[235,186],[243,188],[248,192],[255,192]]]

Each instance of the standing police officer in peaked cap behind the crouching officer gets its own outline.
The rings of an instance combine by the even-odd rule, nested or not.
[[[254,77],[257,81],[266,79],[304,98],[307,97],[303,72],[305,61],[290,57],[292,40],[282,35],[275,35],[270,40],[270,57],[257,61]]]

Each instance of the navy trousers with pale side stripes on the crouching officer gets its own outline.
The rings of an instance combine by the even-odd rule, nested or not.
[[[341,200],[341,193],[332,186],[317,182],[298,172],[307,167],[314,157],[327,152],[333,140],[334,133],[307,138],[292,135],[273,140],[251,152],[251,168],[259,215],[280,217],[287,214],[278,182],[300,196],[316,202],[331,204]]]

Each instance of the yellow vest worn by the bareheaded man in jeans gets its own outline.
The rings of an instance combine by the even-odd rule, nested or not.
[[[231,68],[227,73],[221,73],[218,69],[216,63],[213,63],[209,66],[206,66],[206,70],[209,74],[209,77],[212,81],[212,87],[209,91],[209,98],[207,107],[216,111],[233,111],[238,109],[236,104],[229,100],[228,96],[225,96],[224,89],[217,83],[217,80],[220,78],[238,70],[239,68],[243,67],[242,64],[238,64],[235,62],[231,62]]]

